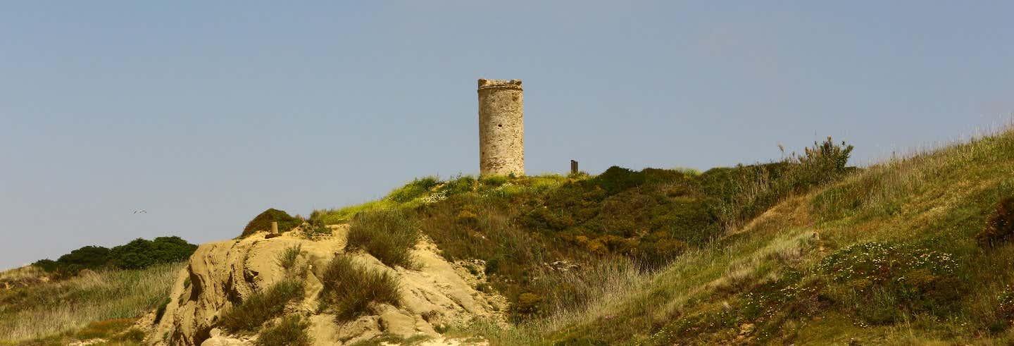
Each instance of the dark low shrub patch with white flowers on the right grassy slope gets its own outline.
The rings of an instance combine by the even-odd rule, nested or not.
[[[896,322],[902,313],[949,314],[964,291],[950,254],[912,246],[857,244],[827,255],[818,268],[829,278],[830,297],[872,324]]]

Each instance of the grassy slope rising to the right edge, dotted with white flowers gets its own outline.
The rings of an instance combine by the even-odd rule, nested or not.
[[[502,344],[1010,344],[1014,245],[980,234],[1011,196],[1012,132],[890,159],[656,272],[621,275],[631,284],[587,309],[464,333]]]

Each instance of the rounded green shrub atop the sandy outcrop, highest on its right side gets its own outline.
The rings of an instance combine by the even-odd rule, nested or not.
[[[419,241],[419,224],[401,210],[357,214],[349,227],[348,246],[362,249],[388,266],[412,268],[409,250]]]

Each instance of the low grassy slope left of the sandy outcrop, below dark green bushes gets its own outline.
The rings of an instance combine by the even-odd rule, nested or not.
[[[84,270],[73,278],[52,281],[31,268],[5,272],[34,274],[30,279],[21,275],[23,284],[0,288],[0,345],[66,345],[114,336],[139,342],[144,326],[135,332],[140,337],[126,332],[165,300],[183,264]]]

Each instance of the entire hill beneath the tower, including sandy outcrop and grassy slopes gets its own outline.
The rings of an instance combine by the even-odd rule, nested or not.
[[[421,178],[308,218],[269,210],[174,265],[174,283],[150,288],[167,302],[106,338],[1014,340],[1014,132],[864,168],[848,165],[850,152],[828,139],[782,161],[704,172]],[[281,234],[266,231],[272,220]]]

